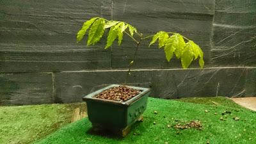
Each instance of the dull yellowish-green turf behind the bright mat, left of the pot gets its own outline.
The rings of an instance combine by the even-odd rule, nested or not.
[[[83,106],[82,106],[83,105]],[[0,143],[32,143],[70,123],[74,108],[85,104],[1,106]]]

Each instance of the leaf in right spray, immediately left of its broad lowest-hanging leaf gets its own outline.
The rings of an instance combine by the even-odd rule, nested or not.
[[[180,59],[180,57],[182,56],[184,47],[186,45],[184,38],[179,33],[175,33],[174,35],[170,36],[170,38],[173,38],[173,47],[176,47],[175,56],[176,58]]]

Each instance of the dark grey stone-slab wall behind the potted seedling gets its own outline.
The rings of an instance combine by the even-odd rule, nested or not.
[[[124,83],[134,44],[108,51],[102,41],[76,44],[91,17],[124,20],[144,35],[182,33],[202,47],[205,69],[180,69],[164,52],[143,43],[129,84],[152,88],[152,97],[256,95],[254,0],[2,0],[0,2],[0,104],[79,102],[106,84]]]

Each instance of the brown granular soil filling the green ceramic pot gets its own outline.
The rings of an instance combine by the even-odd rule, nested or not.
[[[108,100],[116,100],[119,102],[125,102],[132,97],[135,97],[141,92],[141,90],[134,90],[133,88],[129,88],[127,86],[116,86],[113,88],[109,88],[108,90],[104,90],[103,92],[95,95],[96,98],[99,99],[108,99]]]

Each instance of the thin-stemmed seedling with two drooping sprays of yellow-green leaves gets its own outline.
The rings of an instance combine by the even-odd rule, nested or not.
[[[136,49],[132,56],[132,61],[129,63],[129,70],[127,71],[125,83],[129,74],[131,74],[131,67],[134,63],[134,59],[136,58],[141,42],[148,38],[152,38],[148,47],[155,44],[158,40],[158,47],[159,49],[164,49],[167,61],[170,61],[175,55],[177,59],[180,59],[182,68],[188,68],[191,62],[197,59],[199,59],[200,67],[204,67],[204,52],[202,49],[200,49],[195,42],[180,35],[179,33],[159,31],[155,35],[143,36],[143,34],[137,31],[134,26],[131,26],[131,24],[127,24],[126,22],[93,17],[92,19],[84,22],[82,28],[78,31],[77,42],[80,42],[84,38],[84,35],[86,35],[86,31],[89,28],[87,45],[97,44],[104,35],[106,29],[108,30],[108,38],[105,49],[111,47],[116,39],[118,41],[118,45],[121,45],[124,34],[128,35],[136,43]],[[138,35],[136,36],[137,38],[135,38],[134,34]]]

